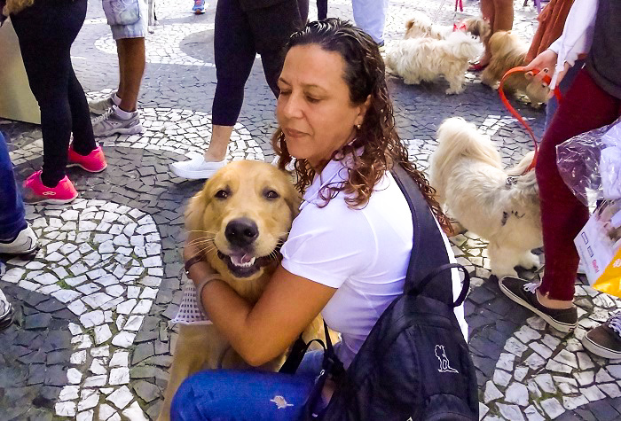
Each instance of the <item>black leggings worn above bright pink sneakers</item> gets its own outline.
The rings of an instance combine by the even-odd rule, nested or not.
[[[87,0],[35,0],[11,16],[20,40],[30,90],[41,109],[43,184],[54,187],[65,176],[69,138],[88,155],[97,147],[89,105],[71,65],[71,44],[86,17]]]

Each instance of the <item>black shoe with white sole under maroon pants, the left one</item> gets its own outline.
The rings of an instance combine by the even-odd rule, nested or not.
[[[499,282],[500,291],[517,304],[528,308],[557,331],[573,331],[578,325],[578,310],[571,308],[547,308],[537,300],[538,284],[528,283],[518,277],[503,277]]]

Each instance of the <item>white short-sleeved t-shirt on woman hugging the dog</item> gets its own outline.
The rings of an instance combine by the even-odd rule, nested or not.
[[[375,186],[366,207],[350,209],[345,193],[326,207],[318,191],[348,176],[342,161],[332,160],[303,196],[300,214],[282,246],[282,266],[290,273],[337,288],[321,312],[326,324],[341,332],[339,358],[349,366],[373,325],[403,293],[412,253],[412,214],[392,175]],[[443,234],[444,236],[444,234]],[[444,244],[455,261],[448,239]],[[459,272],[452,273],[453,296],[461,291]],[[468,324],[463,307],[455,308],[464,338]]]

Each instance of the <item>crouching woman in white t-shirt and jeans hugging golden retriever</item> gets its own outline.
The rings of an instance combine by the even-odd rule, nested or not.
[[[350,23],[326,19],[292,35],[286,50],[276,109],[279,129],[272,141],[280,168],[295,158],[301,212],[282,246],[281,265],[254,307],[218,280],[203,286],[200,300],[232,347],[254,366],[285,352],[321,313],[342,334],[336,354],[347,367],[381,313],[403,292],[412,251],[412,215],[389,168],[404,165],[440,225],[448,229],[449,222],[397,136],[373,39]],[[445,246],[452,256],[448,241]],[[186,259],[196,253],[186,246]],[[197,289],[212,273],[205,262],[190,267]],[[454,293],[459,289],[454,276]],[[463,309],[456,313],[465,331]],[[199,373],[177,392],[172,419],[288,419],[287,410],[303,402],[303,393],[282,392],[277,397],[285,401],[267,394],[290,391],[287,387],[299,391],[300,382],[311,385],[320,369],[321,355],[311,353],[294,377],[271,374],[282,379],[275,386],[262,383],[252,393],[252,381],[236,381],[232,374],[219,381],[229,376],[225,371]],[[264,374],[255,376],[256,383]],[[232,401],[249,396],[252,401],[243,408],[227,406],[208,398],[214,390]],[[255,404],[260,401],[255,393],[267,399]]]

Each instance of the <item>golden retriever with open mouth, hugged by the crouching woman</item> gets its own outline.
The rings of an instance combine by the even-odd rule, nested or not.
[[[299,196],[289,176],[259,161],[240,160],[219,170],[185,212],[186,228],[205,259],[224,282],[249,302],[256,302],[279,264],[279,249],[297,213]],[[304,339],[318,337],[318,317]],[[319,335],[321,337],[321,335]],[[284,355],[263,365],[278,370]],[[240,368],[245,363],[213,324],[180,324],[160,421],[168,420],[170,402],[183,380],[196,371]]]

